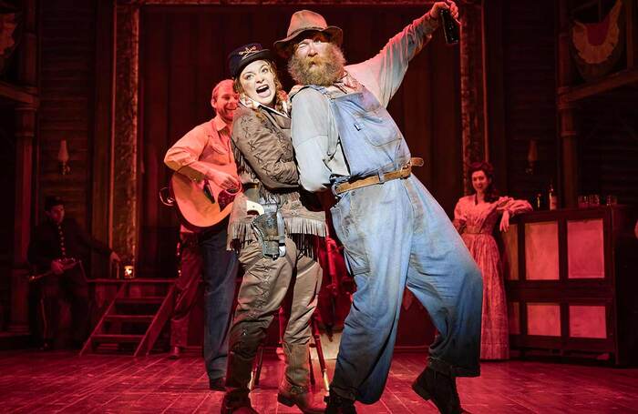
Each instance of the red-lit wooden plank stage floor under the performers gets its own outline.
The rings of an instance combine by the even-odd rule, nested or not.
[[[332,374],[334,360],[328,362]],[[423,355],[397,353],[382,399],[357,404],[358,412],[436,413],[410,389],[423,365]],[[264,358],[261,387],[252,393],[254,407],[264,414],[299,412],[277,403],[281,372],[277,358]],[[478,379],[458,379],[458,389],[473,414],[638,413],[638,369],[491,362],[482,365]],[[216,413],[221,397],[208,389],[201,358],[0,353],[3,413]]]

